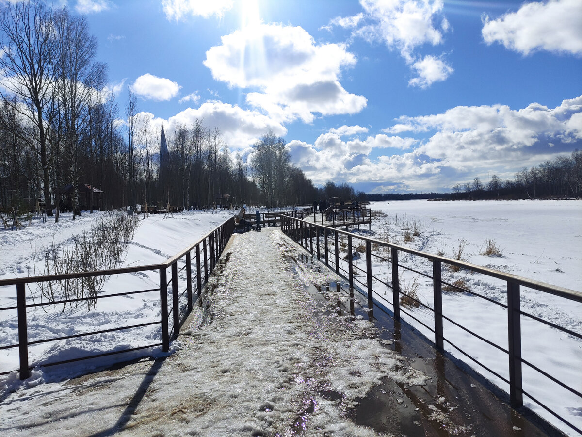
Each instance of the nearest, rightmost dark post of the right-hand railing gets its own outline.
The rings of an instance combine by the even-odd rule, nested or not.
[[[508,281],[509,398],[513,407],[523,406],[521,385],[521,313],[519,284]]]

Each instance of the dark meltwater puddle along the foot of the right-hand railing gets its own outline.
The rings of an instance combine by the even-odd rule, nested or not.
[[[310,255],[300,254],[298,258],[286,255],[297,273],[305,268],[318,272],[326,269]],[[335,312],[346,318],[371,320],[377,328],[371,336],[384,340],[382,344],[406,358],[407,365],[430,376],[423,386],[407,386],[384,378],[365,397],[357,399],[356,408],[346,411],[346,418],[357,425],[396,436],[562,435],[532,414],[526,413],[526,418],[510,408],[491,391],[491,384],[484,378],[466,365],[459,367],[411,326],[395,321],[376,305],[370,312],[367,297],[357,290],[350,292],[346,282],[310,285],[306,290],[324,314]],[[342,395],[334,392],[332,396],[340,399]],[[292,435],[302,434],[310,408],[317,407],[306,406],[305,414],[292,426]]]

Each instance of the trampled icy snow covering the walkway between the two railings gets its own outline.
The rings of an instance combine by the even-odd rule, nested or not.
[[[20,389],[2,400],[0,432],[377,435],[346,419],[346,408],[384,376],[407,385],[427,376],[387,349],[371,322],[318,305],[306,286],[334,278],[285,261],[300,250],[278,229],[236,235],[178,351]]]

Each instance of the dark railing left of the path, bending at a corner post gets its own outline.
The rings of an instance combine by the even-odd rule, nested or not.
[[[217,265],[217,261],[222,254],[230,236],[235,228],[234,218],[229,218],[216,229],[209,232],[196,243],[185,248],[180,253],[174,255],[168,260],[160,264],[143,265],[137,267],[124,267],[119,269],[109,269],[104,271],[83,272],[73,274],[51,275],[51,276],[31,276],[29,278],[3,279],[0,280],[0,287],[15,286],[16,287],[16,305],[0,308],[0,311],[17,311],[18,323],[18,342],[15,344],[1,345],[0,350],[8,350],[13,348],[19,349],[19,363],[18,369],[1,372],[0,375],[6,375],[14,370],[20,373],[20,379],[26,379],[30,376],[30,370],[41,365],[52,366],[72,363],[73,361],[88,360],[91,358],[98,358],[109,356],[113,354],[125,353],[134,350],[148,349],[152,347],[161,346],[163,351],[169,350],[169,342],[171,338],[178,335],[180,324],[183,323],[190,313],[195,303],[201,297],[202,289],[208,280],[208,276]],[[194,254],[194,255],[193,255]],[[179,268],[179,264],[183,264]],[[170,277],[168,280],[168,268],[170,269]],[[59,301],[40,301],[37,302],[33,297],[26,296],[26,287],[34,283],[54,282],[60,280],[77,279],[77,278],[91,278],[99,276],[120,275],[123,273],[136,273],[147,271],[159,271],[159,287],[144,290],[134,290],[130,292],[120,292],[111,294],[99,294],[96,297],[81,297],[79,299],[64,299]],[[179,274],[186,273],[186,286],[183,290],[179,287]],[[193,274],[194,273],[194,274]],[[149,321],[140,324],[129,324],[124,326],[116,326],[115,328],[102,329],[98,331],[87,331],[77,333],[74,335],[65,335],[58,337],[48,337],[33,342],[28,340],[29,327],[27,325],[27,312],[29,310],[37,310],[37,308],[45,308],[50,305],[66,305],[78,304],[87,300],[96,299],[98,301],[111,299],[119,296],[135,296],[145,293],[159,293],[159,320]],[[196,296],[196,297],[194,297]],[[168,308],[168,303],[170,307]],[[58,342],[61,340],[86,337],[91,335],[98,335],[114,331],[124,331],[130,329],[144,328],[145,326],[160,325],[161,329],[159,341],[154,343],[142,344],[137,347],[129,347],[120,350],[105,351],[99,354],[88,354],[87,356],[72,358],[69,360],[60,361],[42,361],[41,363],[29,363],[29,347],[37,344]],[[49,330],[49,329],[48,329]],[[51,357],[48,357],[50,360]]]

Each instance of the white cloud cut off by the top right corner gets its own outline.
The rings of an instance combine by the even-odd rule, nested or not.
[[[524,3],[499,19],[485,16],[482,36],[487,44],[500,42],[524,55],[537,50],[582,55],[582,2]]]

